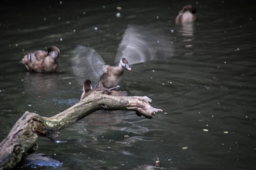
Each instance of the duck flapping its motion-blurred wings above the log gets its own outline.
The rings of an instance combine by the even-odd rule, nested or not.
[[[96,86],[113,88],[120,82],[124,68],[131,71],[130,65],[151,61],[157,55],[163,57],[166,53],[171,56],[172,46],[166,42],[163,36],[148,28],[128,26],[117,50],[116,65],[105,65],[93,48],[79,45],[75,49],[73,71],[80,79],[94,80]],[[167,51],[163,49],[163,45],[168,46]]]

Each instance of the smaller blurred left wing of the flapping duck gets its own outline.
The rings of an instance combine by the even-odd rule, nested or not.
[[[74,74],[81,84],[90,79],[96,85],[106,71],[104,60],[90,47],[77,46],[72,60]]]

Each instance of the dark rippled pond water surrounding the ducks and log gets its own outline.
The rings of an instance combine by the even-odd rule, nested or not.
[[[120,85],[130,95],[149,96],[163,113],[145,119],[98,111],[62,130],[62,143],[39,138],[38,152],[63,161],[60,170],[148,170],[157,157],[163,169],[256,168],[253,1],[59,2],[5,1],[0,7],[0,140],[25,111],[53,116],[79,102],[73,49],[90,44],[111,64],[121,34],[135,23],[165,31],[174,56],[134,66]],[[175,25],[187,4],[197,7],[198,20]],[[31,74],[18,63],[50,45],[61,50],[57,73]]]

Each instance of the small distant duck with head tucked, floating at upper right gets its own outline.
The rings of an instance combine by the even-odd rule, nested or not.
[[[192,5],[187,5],[179,11],[177,17],[175,17],[175,23],[192,23],[196,19],[196,8]]]

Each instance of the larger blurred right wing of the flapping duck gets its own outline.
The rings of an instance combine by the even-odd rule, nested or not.
[[[115,62],[128,59],[129,65],[171,56],[172,45],[158,31],[143,26],[128,26],[119,44]]]

